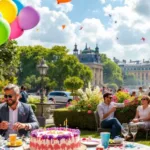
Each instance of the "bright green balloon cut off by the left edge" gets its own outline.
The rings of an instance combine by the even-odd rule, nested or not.
[[[10,25],[2,17],[0,17],[0,45],[4,44],[10,36]]]

